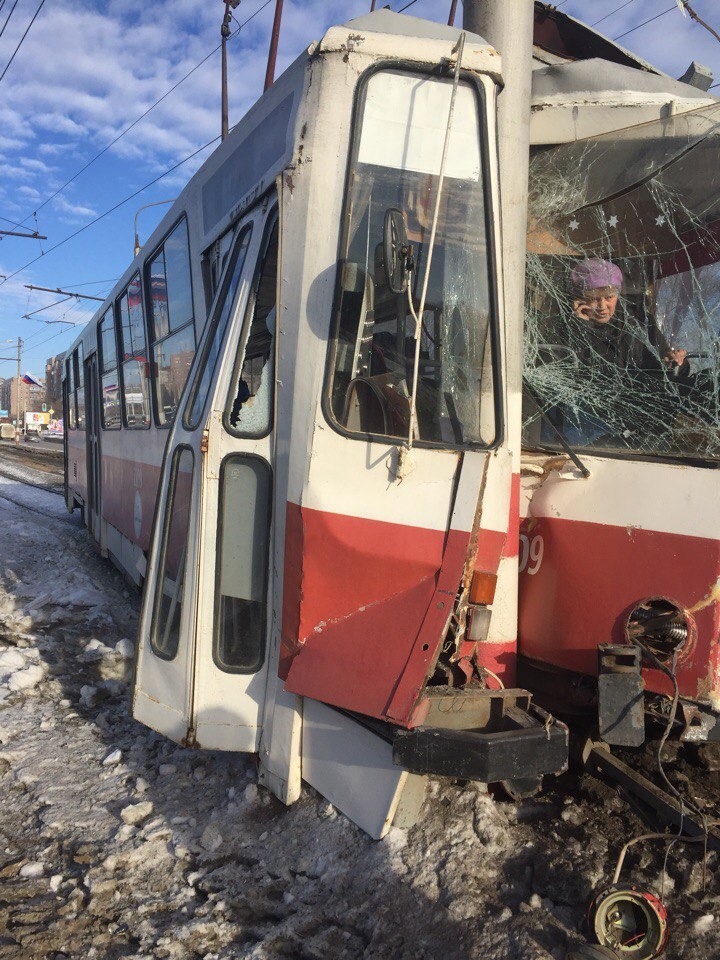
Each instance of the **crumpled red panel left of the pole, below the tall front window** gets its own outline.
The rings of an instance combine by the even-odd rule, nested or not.
[[[289,503],[280,664],[287,689],[407,723],[460,583],[468,536]],[[480,536],[495,567],[497,537]]]

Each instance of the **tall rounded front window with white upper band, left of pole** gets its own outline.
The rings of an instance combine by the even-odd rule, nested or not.
[[[484,107],[461,83],[441,189],[451,91],[445,80],[386,70],[360,101],[327,398],[335,423],[355,435],[407,439],[412,423],[414,440],[442,446],[497,436]],[[392,291],[384,264],[393,210],[413,249],[405,293]]]

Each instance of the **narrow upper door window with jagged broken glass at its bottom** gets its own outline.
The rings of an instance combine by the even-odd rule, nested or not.
[[[244,347],[241,347],[242,364],[236,373],[234,399],[228,413],[232,432],[241,436],[261,437],[272,425],[277,268],[276,219],[269,229],[248,303]]]

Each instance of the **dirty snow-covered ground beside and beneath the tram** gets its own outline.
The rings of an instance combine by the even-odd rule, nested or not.
[[[515,805],[436,781],[379,843],[309,788],[285,808],[252,758],[131,719],[138,609],[59,496],[0,477],[0,960],[560,960],[579,942],[641,832],[613,791],[567,775]],[[670,858],[669,958],[720,956],[716,863],[703,896],[697,852]],[[628,865],[659,885],[658,851]]]

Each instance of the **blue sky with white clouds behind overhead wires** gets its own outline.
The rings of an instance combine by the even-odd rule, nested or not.
[[[235,11],[242,22],[260,10],[228,47],[231,124],[261,92],[275,6],[270,2],[260,9],[263,2],[242,0]],[[406,2],[392,0],[391,5],[397,10]],[[558,6],[593,23],[622,2],[566,0]],[[19,0],[0,38],[0,72],[38,3]],[[359,16],[369,5],[369,0],[285,0],[278,71],[331,23]],[[672,0],[629,0],[598,29],[617,37],[671,6]],[[0,26],[10,8],[8,0],[0,11]],[[446,21],[449,8],[450,0],[416,0],[408,13]],[[717,0],[694,0],[694,8],[720,29]],[[0,216],[33,228],[33,211],[43,201],[217,46],[222,11],[220,0],[46,0],[0,84]],[[458,20],[460,16],[459,10]],[[720,79],[720,43],[679,9],[635,30],[621,43],[673,76],[681,75],[695,59]],[[14,273],[215,137],[219,76],[220,55],[215,53],[85,173],[42,206],[37,224],[48,237],[42,247],[35,240],[2,240],[0,274]],[[77,330],[21,319],[57,299],[31,293],[23,284],[104,296],[132,258],[137,208],[175,197],[208,153],[2,284],[0,355],[12,349],[4,341],[22,336],[27,340],[24,369],[42,375],[45,359],[68,346]],[[141,240],[163,213],[161,207],[141,214]],[[9,223],[2,227],[14,229]],[[96,306],[72,301],[39,318],[62,317],[82,324]],[[14,371],[13,363],[0,362],[0,377]]]

